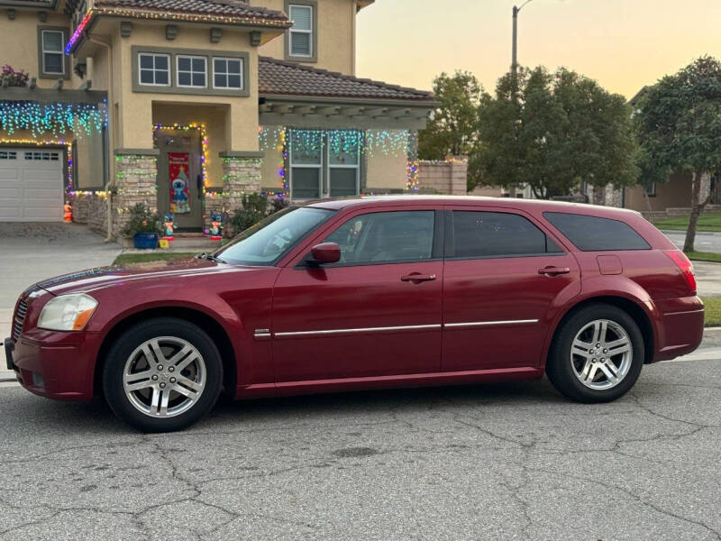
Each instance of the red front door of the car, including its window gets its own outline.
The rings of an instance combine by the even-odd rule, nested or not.
[[[276,381],[439,371],[443,214],[433,207],[356,211],[331,225],[278,276],[273,291]],[[308,264],[333,242],[337,263]]]

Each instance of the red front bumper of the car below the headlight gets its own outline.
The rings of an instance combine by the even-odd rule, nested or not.
[[[93,398],[98,347],[99,336],[95,333],[32,329],[11,345],[8,368],[25,389],[36,395],[87,401]]]

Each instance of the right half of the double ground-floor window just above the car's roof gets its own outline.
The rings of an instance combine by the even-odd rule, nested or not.
[[[328,139],[328,195],[357,196],[360,190],[360,132],[332,131]]]

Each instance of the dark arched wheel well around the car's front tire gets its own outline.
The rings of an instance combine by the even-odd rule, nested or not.
[[[199,326],[205,331],[212,339],[215,345],[218,347],[220,352],[221,361],[223,362],[223,387],[226,393],[231,395],[235,394],[235,382],[237,381],[237,364],[235,362],[235,352],[233,350],[233,344],[224,328],[214,320],[213,317],[186,307],[160,307],[150,308],[148,310],[142,310],[132,316],[128,316],[125,319],[118,322],[110,332],[105,335],[103,344],[100,346],[100,350],[97,353],[95,375],[93,377],[93,389],[96,395],[103,393],[103,386],[101,384],[103,377],[103,367],[105,365],[105,357],[110,349],[110,346],[114,343],[115,339],[121,335],[126,329],[135,325],[136,323],[150,319],[152,317],[176,317],[179,319],[185,319],[190,323]]]

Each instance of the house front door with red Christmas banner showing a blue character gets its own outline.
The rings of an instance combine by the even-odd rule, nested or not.
[[[176,231],[203,227],[202,146],[198,130],[160,129],[155,133],[158,156],[158,211],[173,213]]]

